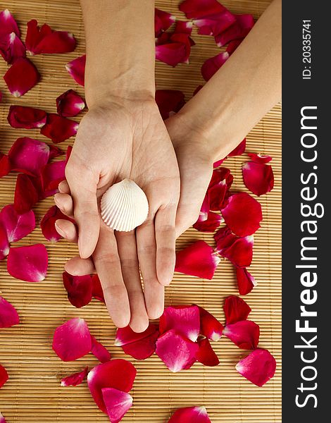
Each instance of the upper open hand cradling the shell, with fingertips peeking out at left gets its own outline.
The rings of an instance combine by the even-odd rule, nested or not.
[[[65,238],[77,238],[80,250],[65,269],[89,274],[95,266],[115,325],[144,331],[148,318],[162,314],[163,286],[173,276],[180,192],[175,152],[154,100],[116,98],[94,106],[80,123],[65,174],[68,185],[60,185],[55,201],[75,216],[77,231],[56,223]],[[148,218],[128,233],[109,229],[99,214],[100,197],[124,178],[135,180],[149,200]]]

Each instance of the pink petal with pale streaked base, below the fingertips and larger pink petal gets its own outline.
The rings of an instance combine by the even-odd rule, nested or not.
[[[170,372],[175,373],[192,367],[198,350],[197,343],[171,329],[158,338],[155,352]]]

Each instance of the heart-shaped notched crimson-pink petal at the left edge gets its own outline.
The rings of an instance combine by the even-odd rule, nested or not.
[[[8,204],[0,212],[0,221],[6,229],[9,243],[15,243],[29,235],[36,226],[35,213],[16,213],[13,204]]]

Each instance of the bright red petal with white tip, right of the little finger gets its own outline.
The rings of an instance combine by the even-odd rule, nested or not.
[[[204,241],[196,241],[177,252],[175,271],[211,280],[220,258],[213,248]]]

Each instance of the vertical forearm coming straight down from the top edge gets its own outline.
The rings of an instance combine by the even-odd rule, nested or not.
[[[85,23],[85,94],[89,108],[110,97],[153,97],[154,1],[80,2]]]

